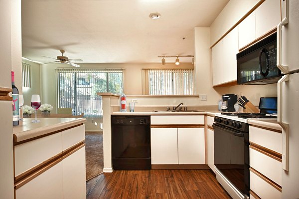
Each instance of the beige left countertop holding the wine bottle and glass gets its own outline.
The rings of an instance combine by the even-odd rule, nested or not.
[[[85,118],[38,118],[40,123],[32,123],[32,119],[24,118],[18,126],[13,127],[14,144],[62,131],[86,122]]]

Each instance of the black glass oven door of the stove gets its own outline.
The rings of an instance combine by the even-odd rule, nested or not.
[[[214,162],[221,174],[249,196],[249,135],[214,124]]]

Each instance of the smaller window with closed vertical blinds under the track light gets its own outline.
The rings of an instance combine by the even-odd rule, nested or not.
[[[193,69],[143,69],[143,94],[193,95]]]

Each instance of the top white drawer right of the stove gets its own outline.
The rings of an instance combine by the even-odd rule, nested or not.
[[[282,133],[249,126],[249,142],[282,153]]]

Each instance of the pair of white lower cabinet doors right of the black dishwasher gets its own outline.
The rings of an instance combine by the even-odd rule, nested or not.
[[[151,164],[205,164],[204,128],[151,128]]]

